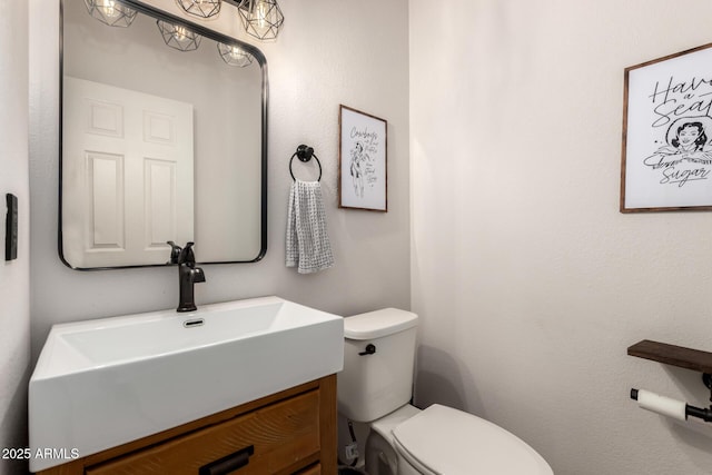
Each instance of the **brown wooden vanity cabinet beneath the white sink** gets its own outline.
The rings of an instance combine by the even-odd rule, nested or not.
[[[336,375],[303,384],[40,475],[333,475]]]

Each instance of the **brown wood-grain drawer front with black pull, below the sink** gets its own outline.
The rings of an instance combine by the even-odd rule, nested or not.
[[[160,445],[88,467],[87,475],[196,475],[253,446],[239,475],[277,473],[319,452],[319,395],[309,392]]]

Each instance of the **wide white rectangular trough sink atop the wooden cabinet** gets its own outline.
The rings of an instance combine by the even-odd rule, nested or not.
[[[344,323],[278,297],[55,325],[30,379],[37,472],[342,370]],[[63,451],[62,451],[63,449]]]

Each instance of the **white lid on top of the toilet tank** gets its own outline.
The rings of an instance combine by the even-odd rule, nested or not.
[[[398,308],[383,308],[344,318],[344,337],[349,339],[374,339],[393,335],[418,323],[413,311]]]

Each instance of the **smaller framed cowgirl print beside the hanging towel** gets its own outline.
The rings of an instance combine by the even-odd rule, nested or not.
[[[338,123],[338,207],[387,211],[387,122],[342,105]]]

